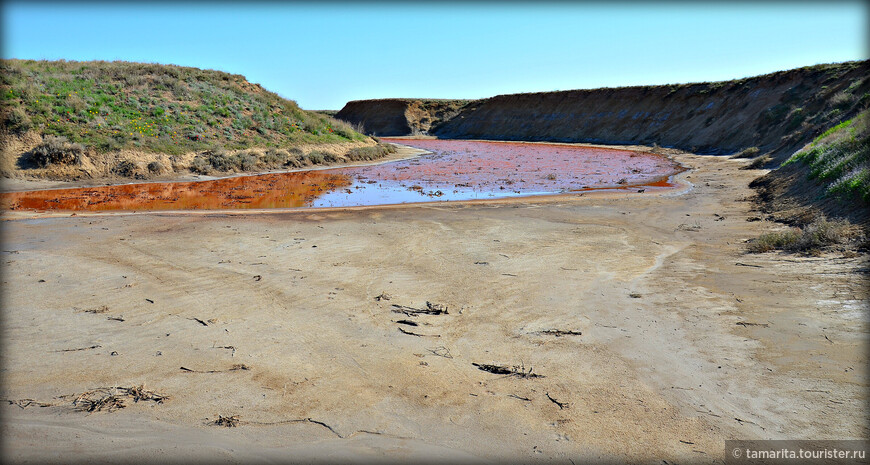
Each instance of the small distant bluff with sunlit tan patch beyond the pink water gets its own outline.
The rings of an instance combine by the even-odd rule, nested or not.
[[[406,136],[428,134],[456,116],[468,100],[381,99],[349,102],[335,117],[367,134]]]

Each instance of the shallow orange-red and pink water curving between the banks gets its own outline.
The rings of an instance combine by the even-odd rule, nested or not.
[[[346,207],[597,189],[656,190],[682,168],[650,153],[527,142],[384,139],[432,153],[380,165],[0,194],[4,210]]]

